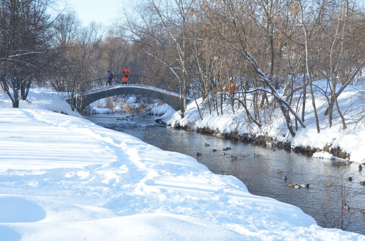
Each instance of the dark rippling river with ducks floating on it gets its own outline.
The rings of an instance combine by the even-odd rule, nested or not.
[[[354,196],[349,201],[346,200],[350,209],[343,210],[343,225],[348,222],[348,231],[365,234],[362,226],[365,213],[360,212],[361,209],[365,209],[365,185],[359,183],[365,180],[365,168],[364,171],[359,171],[356,163],[349,165],[343,161],[312,158],[310,154],[300,154],[277,146],[232,141],[195,131],[174,130],[155,123],[155,116],[135,115],[134,118],[129,117],[127,121],[116,120],[123,117],[123,115],[99,114],[89,116],[88,119],[99,126],[133,135],[162,150],[190,155],[213,173],[239,178],[251,194],[298,206],[323,227],[331,228],[334,224],[335,227],[340,227],[336,219],[343,210],[341,201],[338,202],[341,195],[337,194],[341,190],[337,188],[336,191],[339,185],[335,183],[342,182],[342,186],[345,186],[345,195],[346,191],[349,191],[349,195]],[[142,129],[149,129],[149,132]],[[210,146],[205,146],[205,143]],[[231,149],[224,151],[226,155],[222,155],[223,148],[226,147]],[[217,151],[214,152],[213,149]],[[197,156],[198,152],[201,155]],[[254,154],[259,156],[255,157]],[[238,158],[230,161],[231,155]],[[245,157],[241,157],[242,155]],[[283,170],[283,173],[277,173],[277,169]],[[341,172],[343,172],[342,178],[340,178]],[[288,177],[286,181],[283,179],[284,176]],[[348,181],[347,176],[353,177],[353,180]],[[310,187],[299,189],[288,187],[289,182],[294,185],[309,183]],[[326,182],[331,182],[333,186],[326,186]],[[323,210],[326,208],[329,210],[326,216],[328,221],[324,222]]]

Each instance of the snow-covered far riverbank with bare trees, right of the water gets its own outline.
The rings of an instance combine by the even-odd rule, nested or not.
[[[324,85],[321,87],[326,89],[325,82],[318,82],[316,85]],[[365,95],[358,91],[359,88],[360,86],[349,86],[338,98],[347,129],[342,129],[341,119],[336,109],[333,112],[333,126],[329,127],[328,115],[325,115],[328,107],[327,100],[323,95],[318,94],[316,95],[316,107],[320,133],[318,134],[316,130],[313,107],[307,103],[304,122],[306,128],[303,129],[299,126],[294,138],[291,137],[280,110],[272,113],[272,120],[259,128],[255,124],[247,122],[246,112],[242,107],[241,109],[237,108],[237,102],[234,113],[231,105],[226,104],[223,108],[223,115],[221,115],[220,110],[218,113],[217,111],[210,113],[206,105],[201,105],[202,100],[200,98],[197,102],[200,105],[203,119],[199,116],[195,102],[188,104],[183,119],[180,118],[179,113],[171,114],[170,111],[159,119],[172,126],[188,127],[193,130],[209,130],[233,137],[266,137],[273,142],[287,143],[292,148],[319,151],[319,153],[325,150],[342,158],[350,156],[353,162],[365,163],[365,155],[362,151],[365,147]],[[331,155],[317,154],[315,156],[326,158]]]

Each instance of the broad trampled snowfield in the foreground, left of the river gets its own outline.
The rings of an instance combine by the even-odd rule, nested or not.
[[[62,100],[28,99],[0,94],[0,240],[365,240]]]

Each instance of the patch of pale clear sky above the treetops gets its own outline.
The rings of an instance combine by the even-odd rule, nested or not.
[[[91,21],[104,25],[112,25],[112,20],[118,17],[118,12],[125,0],[69,0],[69,7],[73,8],[84,26]]]

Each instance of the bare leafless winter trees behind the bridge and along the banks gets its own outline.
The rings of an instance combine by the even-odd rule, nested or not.
[[[330,126],[337,112],[345,129],[337,99],[364,75],[361,1],[143,0],[108,30],[82,27],[72,11],[49,13],[52,4],[1,1],[1,85],[13,107],[26,99],[31,82],[67,87],[76,96],[72,108],[82,106],[88,80],[107,70],[120,74],[127,65],[149,84],[176,86],[182,117],[191,93],[203,98],[200,117],[222,115],[229,103],[260,127],[279,110],[295,136],[306,126],[308,104],[320,132],[318,94]]]

